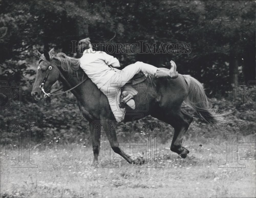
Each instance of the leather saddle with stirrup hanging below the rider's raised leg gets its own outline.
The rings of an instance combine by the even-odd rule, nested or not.
[[[134,97],[138,95],[137,87],[143,86],[142,83],[146,81],[148,77],[151,80],[151,77],[148,74],[144,74],[143,72],[140,72],[138,74],[135,74],[131,80],[129,80],[127,83],[125,83],[121,87],[121,95],[120,95],[121,108],[130,108],[129,105],[127,105],[126,103],[129,100],[134,99]]]

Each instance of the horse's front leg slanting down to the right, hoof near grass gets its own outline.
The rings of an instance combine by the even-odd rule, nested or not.
[[[110,127],[110,125],[113,126],[115,124],[117,124],[117,123],[114,121],[107,121],[107,122],[103,121],[101,123],[101,125],[105,131],[111,131],[111,138],[109,139],[109,143],[110,143],[110,146],[113,149],[113,151],[115,153],[121,155],[130,164],[144,164],[145,160],[143,159],[143,157],[135,157],[135,156],[128,155],[119,147],[119,143],[118,143],[118,139],[117,139],[115,130],[110,130],[111,128],[112,129],[114,128],[114,127]]]

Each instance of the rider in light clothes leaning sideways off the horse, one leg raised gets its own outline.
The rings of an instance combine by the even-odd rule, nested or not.
[[[116,99],[121,94],[120,87],[131,80],[135,74],[143,72],[156,76],[157,78],[178,77],[176,64],[173,61],[171,61],[172,67],[170,70],[157,68],[143,62],[136,62],[119,70],[116,69],[116,67],[120,67],[118,59],[105,52],[94,51],[89,38],[80,40],[79,45],[83,50],[83,56],[80,58],[80,67],[92,82],[106,95],[117,122],[123,120],[125,113],[125,109],[119,106],[118,100]],[[134,108],[134,100],[130,100],[130,104],[128,105]]]

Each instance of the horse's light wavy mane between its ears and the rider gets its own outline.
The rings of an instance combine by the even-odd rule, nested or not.
[[[62,52],[55,54],[54,49],[51,49],[49,54],[50,54],[50,57],[55,57],[57,60],[60,61],[61,68],[63,69],[63,71],[68,72],[69,77],[72,76],[73,71],[76,71],[76,74],[78,76],[77,72],[80,69],[79,59],[69,57]]]

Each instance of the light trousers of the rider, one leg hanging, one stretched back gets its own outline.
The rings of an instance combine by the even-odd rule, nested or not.
[[[125,109],[121,108],[120,105],[120,87],[124,86],[127,81],[131,80],[132,77],[143,72],[150,75],[156,75],[157,67],[149,65],[143,62],[136,62],[134,64],[128,65],[122,70],[115,72],[115,74],[100,88],[100,90],[108,98],[110,108],[117,122],[122,122],[124,119]]]

